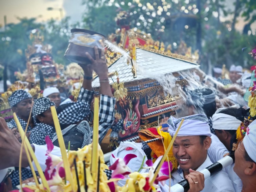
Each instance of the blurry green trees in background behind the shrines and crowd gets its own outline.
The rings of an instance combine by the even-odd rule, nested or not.
[[[85,28],[107,36],[120,28],[115,21],[119,11],[126,11],[130,29],[150,34],[166,47],[171,44],[173,51],[181,40],[192,51],[198,49],[199,63],[207,73],[215,65],[254,65],[248,52],[256,46],[255,31],[250,29],[256,18],[256,1],[235,0],[232,11],[225,0],[83,0],[83,4],[86,10],[81,23],[71,25],[66,17],[61,22],[51,19],[46,24],[36,23],[35,18],[19,18],[18,24],[8,24],[0,32],[0,64],[23,71],[24,51],[32,43],[30,33],[40,31],[44,44],[52,46],[54,61],[67,65],[64,52],[70,29]],[[242,32],[234,27],[239,16],[247,22]],[[243,47],[247,49],[242,51]]]

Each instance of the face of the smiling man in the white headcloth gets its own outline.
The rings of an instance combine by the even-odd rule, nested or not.
[[[206,142],[206,140],[208,140]],[[199,136],[178,136],[173,143],[173,154],[183,171],[196,170],[207,157],[207,149],[210,147],[207,137],[203,144]]]

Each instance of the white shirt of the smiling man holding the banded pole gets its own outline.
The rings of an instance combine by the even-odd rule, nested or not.
[[[212,161],[207,156],[205,162],[197,168],[196,171],[201,171],[202,169],[210,166],[212,164]],[[183,177],[183,170],[181,168],[178,168],[177,171],[172,173],[172,184],[179,183],[180,181],[184,180]],[[162,191],[166,191],[167,185],[169,185],[169,181],[167,180],[166,185],[164,188],[161,189]],[[169,191],[169,190],[168,190]],[[227,173],[224,171],[220,171],[216,173],[213,176],[210,176],[209,178],[205,179],[205,188],[202,190],[202,192],[235,192],[235,189],[232,185],[231,180],[229,179]]]

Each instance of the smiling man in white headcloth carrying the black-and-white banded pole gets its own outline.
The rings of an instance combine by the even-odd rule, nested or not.
[[[182,118],[169,119],[169,133],[174,136]],[[211,131],[208,118],[197,114],[184,117],[184,122],[173,143],[173,154],[179,163],[177,171],[172,173],[172,183],[182,181],[192,170],[201,171],[212,164],[207,156],[211,145]],[[192,169],[192,170],[191,170]],[[192,178],[198,184],[197,178]],[[227,173],[220,171],[214,176],[205,179],[204,192],[231,192],[235,191]]]

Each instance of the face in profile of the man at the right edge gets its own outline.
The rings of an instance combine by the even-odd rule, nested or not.
[[[247,161],[245,160],[245,146],[243,141],[238,144],[237,149],[235,150],[235,165],[234,171],[242,178],[245,175],[245,169],[247,168]]]

